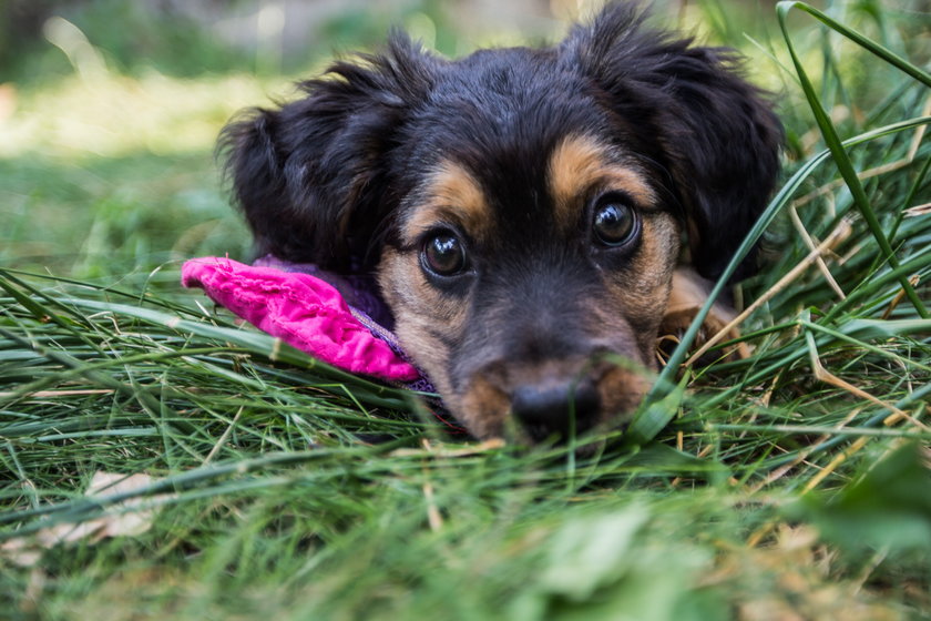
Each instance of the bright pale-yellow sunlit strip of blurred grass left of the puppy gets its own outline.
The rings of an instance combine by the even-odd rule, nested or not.
[[[287,90],[286,80],[269,84],[245,74],[73,74],[19,95],[0,120],[0,157],[202,154],[236,111]]]

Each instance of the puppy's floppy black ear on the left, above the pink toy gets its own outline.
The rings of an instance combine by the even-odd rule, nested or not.
[[[396,32],[385,53],[336,62],[299,84],[303,99],[223,130],[219,152],[258,253],[361,266],[393,208],[387,154],[439,62]]]

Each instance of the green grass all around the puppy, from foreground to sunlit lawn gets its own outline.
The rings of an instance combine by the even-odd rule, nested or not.
[[[672,369],[637,441],[594,456],[470,445],[412,395],[180,289],[183,258],[245,255],[213,135],[287,79],[111,72],[94,85],[110,111],[75,77],[24,83],[0,124],[0,617],[931,617],[918,6],[828,2],[860,41],[790,10],[799,67],[766,3],[741,4],[759,18],[745,40],[728,4],[690,6],[753,55],[789,130],[769,266],[743,287],[765,302],[743,325],[749,358],[687,370],[682,394]],[[776,286],[809,255],[802,232],[818,244],[843,222],[823,271]],[[98,470],[152,479],[86,497]],[[122,515],[151,528],[38,543]]]

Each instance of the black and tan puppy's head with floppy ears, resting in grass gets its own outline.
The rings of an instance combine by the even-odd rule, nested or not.
[[[224,145],[262,253],[372,273],[473,435],[540,439],[625,421],[677,262],[716,277],[765,206],[781,130],[734,61],[626,3],[454,61],[395,34]]]

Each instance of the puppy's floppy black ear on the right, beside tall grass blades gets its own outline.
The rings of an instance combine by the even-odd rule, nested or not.
[[[643,22],[635,3],[608,4],[560,51],[647,139],[685,211],[692,264],[717,278],[773,193],[782,129],[738,74],[733,51],[694,47]],[[755,263],[751,254],[735,277],[750,275]]]

